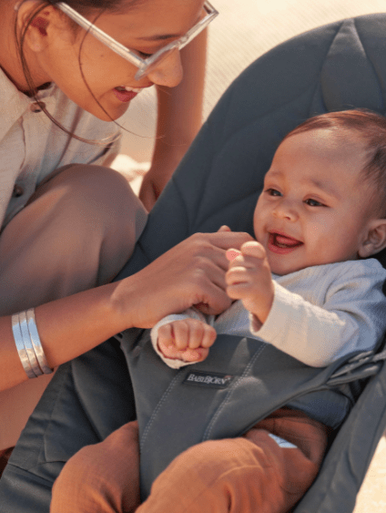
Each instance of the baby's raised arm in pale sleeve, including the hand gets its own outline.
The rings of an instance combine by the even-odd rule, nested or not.
[[[385,271],[380,264],[348,264],[318,305],[272,282],[259,243],[247,242],[227,256],[229,296],[240,299],[251,313],[251,333],[280,351],[322,367],[380,342],[386,328]]]

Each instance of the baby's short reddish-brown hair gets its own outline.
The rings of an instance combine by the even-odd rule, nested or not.
[[[377,191],[376,211],[386,217],[386,118],[365,108],[328,112],[307,119],[284,138],[310,130],[344,130],[355,134],[367,151],[367,161],[362,169],[363,178]],[[344,133],[343,133],[344,135]]]

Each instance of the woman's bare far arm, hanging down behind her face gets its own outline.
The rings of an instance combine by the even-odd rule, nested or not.
[[[181,50],[184,77],[178,87],[157,87],[157,139],[139,198],[151,210],[202,124],[207,31]]]

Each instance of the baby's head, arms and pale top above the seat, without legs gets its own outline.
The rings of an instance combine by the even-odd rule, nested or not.
[[[384,118],[356,110],[290,132],[259,196],[257,241],[227,251],[227,293],[242,304],[217,319],[190,309],[157,323],[165,362],[205,359],[217,333],[256,336],[313,366],[377,344],[384,272],[363,259],[386,246],[385,130]]]

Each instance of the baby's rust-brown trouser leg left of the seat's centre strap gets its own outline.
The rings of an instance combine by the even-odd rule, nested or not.
[[[138,506],[136,421],[68,460],[54,484],[50,513],[132,513]]]

